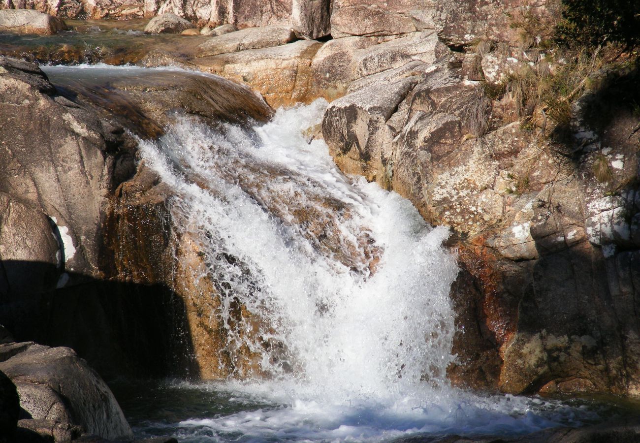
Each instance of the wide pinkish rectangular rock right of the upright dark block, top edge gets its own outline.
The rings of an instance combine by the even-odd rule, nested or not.
[[[395,35],[435,29],[435,2],[407,0],[334,0],[331,33],[349,35]]]

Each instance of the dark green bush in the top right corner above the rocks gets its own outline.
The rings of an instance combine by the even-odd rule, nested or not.
[[[639,0],[562,0],[556,40],[568,46],[640,45]]]

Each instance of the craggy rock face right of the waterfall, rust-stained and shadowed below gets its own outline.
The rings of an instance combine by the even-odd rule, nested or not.
[[[490,127],[492,102],[468,78],[468,58],[444,54],[353,81],[324,116],[332,156],[458,236],[454,382],[637,395],[640,158],[630,110],[612,109],[605,135],[591,140],[604,154],[570,163],[518,122]],[[598,182],[596,161],[617,168],[615,178]]]

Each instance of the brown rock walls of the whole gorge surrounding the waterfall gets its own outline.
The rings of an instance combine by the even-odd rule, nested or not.
[[[0,36],[0,49],[13,56],[0,59],[0,324],[15,337],[0,345],[0,370],[54,440],[130,431],[84,362],[88,383],[109,398],[92,405],[116,410],[107,415],[118,423],[79,416],[74,405],[91,400],[52,387],[57,369],[45,382],[34,378],[16,363],[23,354],[76,359],[66,346],[107,380],[267,375],[259,351],[230,351],[229,342],[246,331],[271,351],[281,346],[262,338],[271,325],[228,296],[224,282],[198,278],[211,257],[179,229],[172,191],[141,161],[140,143],[166,135],[184,113],[221,131],[235,124],[251,133],[248,122],[268,122],[274,108],[316,99],[330,103],[308,140],[324,140],[342,172],[396,191],[428,223],[452,231],[446,245],[460,268],[450,292],[457,358],[447,376],[454,385],[637,398],[638,72],[630,62],[603,68],[589,73],[593,84],[583,81],[571,102],[527,102],[526,79],[560,77],[567,64],[541,45],[559,4],[63,0],[2,7],[58,17],[45,20],[56,23],[46,25],[54,36]],[[102,19],[111,21],[91,21]],[[61,31],[60,20],[84,30]],[[112,30],[128,23],[130,35]],[[82,28],[89,25],[98,29]],[[526,35],[534,31],[540,35]],[[88,38],[100,45],[90,47]],[[171,65],[220,77],[161,70],[79,77],[31,61]],[[275,168],[264,173],[282,176]],[[291,215],[260,189],[254,198],[278,220],[310,227],[318,250],[375,272],[380,252],[362,246],[366,232],[345,250],[326,228],[330,219],[308,207]],[[323,207],[349,211],[323,198]],[[210,314],[223,308],[232,325]],[[49,404],[67,409],[38,412],[43,389]],[[636,431],[625,429],[632,441]]]

